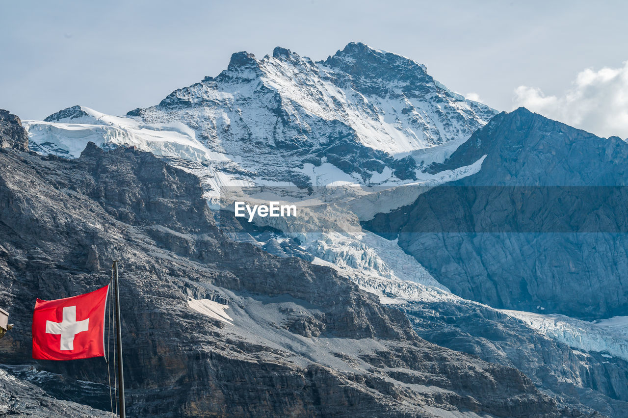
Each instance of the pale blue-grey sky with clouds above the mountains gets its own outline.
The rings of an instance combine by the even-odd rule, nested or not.
[[[351,41],[423,63],[451,90],[628,137],[628,2],[18,1],[0,13],[0,108],[121,115],[215,76],[236,51],[322,60]]]

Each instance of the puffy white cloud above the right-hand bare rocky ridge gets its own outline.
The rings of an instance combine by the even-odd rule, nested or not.
[[[559,96],[519,86],[513,102],[598,136],[628,138],[628,61],[621,68],[587,68]]]

